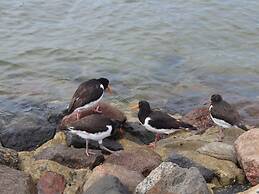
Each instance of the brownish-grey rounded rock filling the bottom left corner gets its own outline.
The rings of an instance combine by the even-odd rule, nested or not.
[[[1,194],[36,194],[31,177],[22,171],[0,165]]]

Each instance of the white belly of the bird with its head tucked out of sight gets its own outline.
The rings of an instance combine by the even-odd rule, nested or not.
[[[98,133],[87,133],[86,131],[79,131],[76,130],[74,128],[69,128],[69,131],[73,134],[76,134],[84,139],[91,139],[91,140],[95,140],[95,141],[100,141],[103,140],[106,137],[109,137],[111,135],[112,132],[112,126],[111,125],[106,125],[106,127],[108,128],[107,131],[103,131],[103,132],[98,132]]]

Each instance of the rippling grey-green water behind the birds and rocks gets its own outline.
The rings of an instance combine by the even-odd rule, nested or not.
[[[212,93],[259,100],[256,0],[0,1],[0,107],[66,104],[108,77],[113,103],[186,112]]]

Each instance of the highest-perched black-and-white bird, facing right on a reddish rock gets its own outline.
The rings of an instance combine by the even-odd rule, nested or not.
[[[76,111],[79,119],[80,111],[83,109],[94,109],[95,112],[100,113],[98,102],[102,99],[105,90],[112,93],[109,80],[106,78],[91,79],[81,83],[69,103],[67,114]]]

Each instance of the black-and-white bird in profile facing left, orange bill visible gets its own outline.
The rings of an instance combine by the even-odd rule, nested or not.
[[[160,139],[160,134],[171,134],[181,129],[197,130],[194,126],[177,120],[167,113],[161,111],[153,111],[147,101],[139,101],[137,106],[132,109],[139,109],[138,118],[140,123],[148,130],[156,133],[155,142],[151,143],[151,147],[156,146],[156,142]]]

